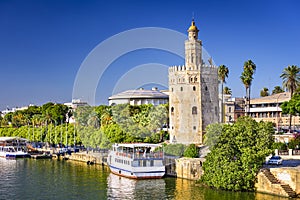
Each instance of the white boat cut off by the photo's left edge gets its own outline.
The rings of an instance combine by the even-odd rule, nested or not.
[[[0,157],[26,158],[30,155],[25,152],[27,140],[19,137],[0,137]]]

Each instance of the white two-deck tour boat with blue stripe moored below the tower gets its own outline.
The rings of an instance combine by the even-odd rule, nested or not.
[[[114,144],[107,163],[112,173],[135,179],[162,178],[165,175],[160,145],[149,143]]]

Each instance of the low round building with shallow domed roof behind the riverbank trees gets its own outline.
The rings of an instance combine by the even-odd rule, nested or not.
[[[163,92],[158,91],[156,87],[152,88],[152,90],[145,90],[143,88],[140,88],[137,90],[127,90],[115,94],[109,97],[108,101],[110,106],[117,104],[152,104],[156,106],[168,103],[169,96]]]

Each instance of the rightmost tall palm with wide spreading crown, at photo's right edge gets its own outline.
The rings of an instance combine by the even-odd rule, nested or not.
[[[283,88],[286,89],[291,93],[291,98],[296,91],[296,89],[300,85],[300,68],[296,65],[289,65],[288,67],[284,68],[282,74],[280,75],[282,78],[282,85]],[[290,123],[289,123],[289,130],[291,131],[292,126],[292,115],[290,114]]]

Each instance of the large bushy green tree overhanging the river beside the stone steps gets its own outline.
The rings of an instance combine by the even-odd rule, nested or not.
[[[256,175],[272,152],[273,125],[241,117],[224,125],[219,141],[206,157],[201,180],[218,189],[254,190]]]

